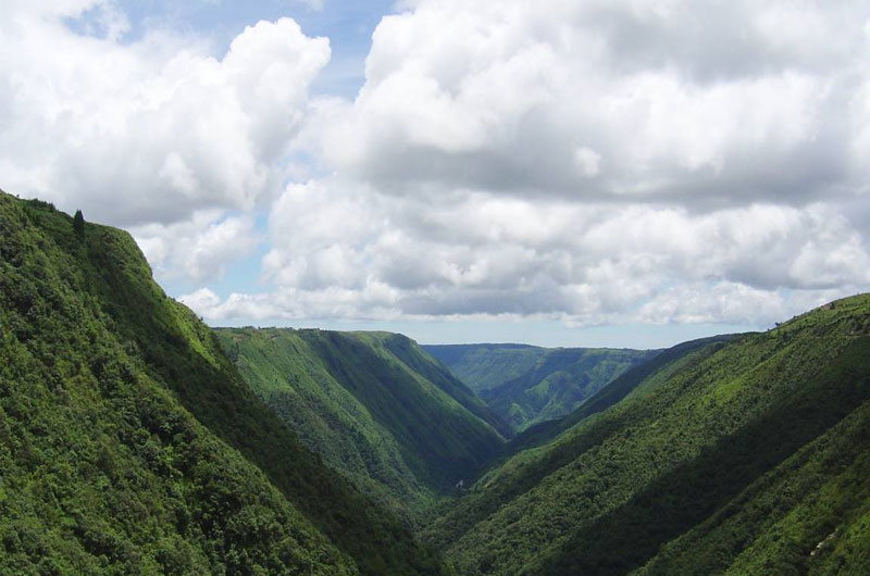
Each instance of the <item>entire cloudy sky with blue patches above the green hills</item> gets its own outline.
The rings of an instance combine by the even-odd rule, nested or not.
[[[870,289],[866,1],[0,13],[0,188],[213,326],[657,348]]]

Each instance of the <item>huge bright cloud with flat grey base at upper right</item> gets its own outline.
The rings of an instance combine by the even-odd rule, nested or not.
[[[359,96],[324,104],[320,145],[327,165],[396,193],[855,193],[868,172],[846,152],[867,122],[844,108],[867,74],[862,14],[858,2],[421,1],[382,21]]]

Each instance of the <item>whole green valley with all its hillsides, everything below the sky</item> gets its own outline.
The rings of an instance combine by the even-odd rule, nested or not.
[[[666,350],[216,328],[0,192],[0,573],[862,574],[870,296]]]

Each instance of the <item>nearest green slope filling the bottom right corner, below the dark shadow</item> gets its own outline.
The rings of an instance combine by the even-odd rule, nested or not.
[[[866,574],[868,438],[870,404],[865,402],[666,544],[637,574]]]

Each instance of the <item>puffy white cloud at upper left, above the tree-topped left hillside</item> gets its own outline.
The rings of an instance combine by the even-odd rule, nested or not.
[[[101,35],[77,29],[89,10]],[[215,58],[160,30],[121,42],[116,14],[96,0],[4,8],[3,186],[126,226],[250,210],[279,190],[328,40],[260,22]]]

